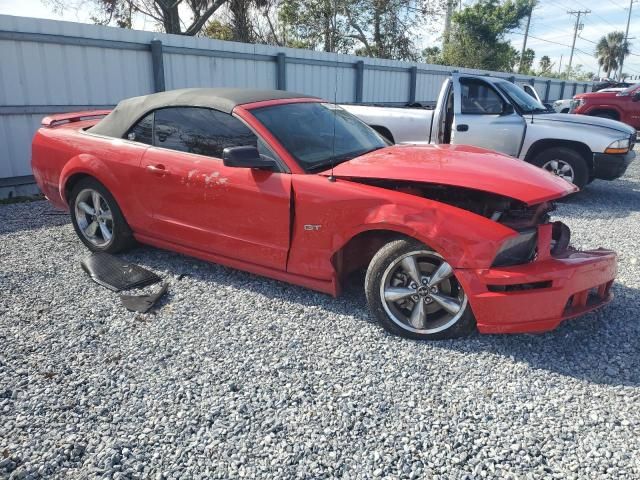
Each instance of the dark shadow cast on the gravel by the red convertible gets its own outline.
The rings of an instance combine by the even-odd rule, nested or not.
[[[126,257],[172,275],[186,273],[195,280],[243,288],[254,294],[303,306],[321,306],[331,315],[372,322],[362,289],[364,277],[357,274],[345,285],[344,294],[332,299],[305,288],[152,248],[136,249]],[[435,347],[436,351],[445,348],[470,354],[489,352],[512,361],[525,362],[535,369],[596,384],[640,386],[640,349],[637,340],[640,338],[640,322],[635,313],[640,290],[616,284],[614,293],[616,298],[611,304],[564,322],[549,333],[476,334],[456,340],[415,343],[431,351]],[[387,334],[380,329],[380,335]]]

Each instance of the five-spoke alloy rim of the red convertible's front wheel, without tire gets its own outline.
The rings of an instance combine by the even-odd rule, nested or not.
[[[428,250],[394,260],[382,275],[380,298],[394,323],[420,334],[450,328],[467,307],[467,295],[451,266]]]

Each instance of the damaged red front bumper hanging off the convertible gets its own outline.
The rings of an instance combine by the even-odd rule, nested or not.
[[[613,299],[615,252],[567,250],[544,257],[513,267],[456,271],[481,333],[553,330]]]

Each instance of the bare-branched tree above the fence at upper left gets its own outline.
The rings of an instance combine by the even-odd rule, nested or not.
[[[54,10],[78,9],[65,0],[43,0]],[[166,33],[197,35],[214,13],[228,0],[87,0],[92,19],[100,25],[131,28],[135,15],[153,19]]]

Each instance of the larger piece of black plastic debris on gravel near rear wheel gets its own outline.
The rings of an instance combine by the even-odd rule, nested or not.
[[[108,253],[92,253],[81,265],[96,283],[114,292],[145,287],[161,280],[155,273]]]

